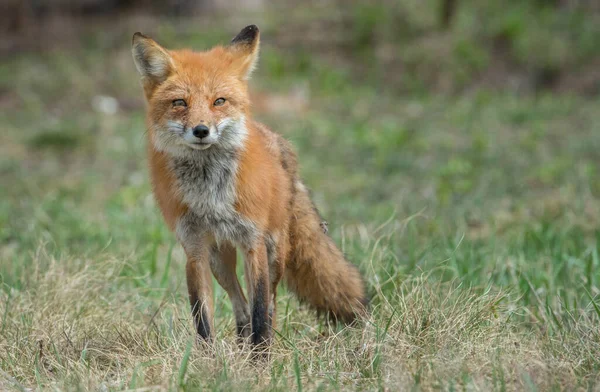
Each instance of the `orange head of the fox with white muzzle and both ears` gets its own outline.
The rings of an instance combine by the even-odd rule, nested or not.
[[[181,155],[242,145],[259,35],[258,27],[247,26],[228,46],[205,52],[167,50],[141,33],[133,35],[133,60],[157,150]]]

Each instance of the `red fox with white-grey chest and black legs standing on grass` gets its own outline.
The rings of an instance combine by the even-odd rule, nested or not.
[[[153,191],[186,253],[194,324],[206,341],[213,336],[211,271],[232,302],[238,335],[254,345],[271,340],[282,278],[319,313],[346,323],[366,314],[362,276],[327,235],[290,144],[250,114],[259,41],[255,25],[205,52],[133,36]]]

